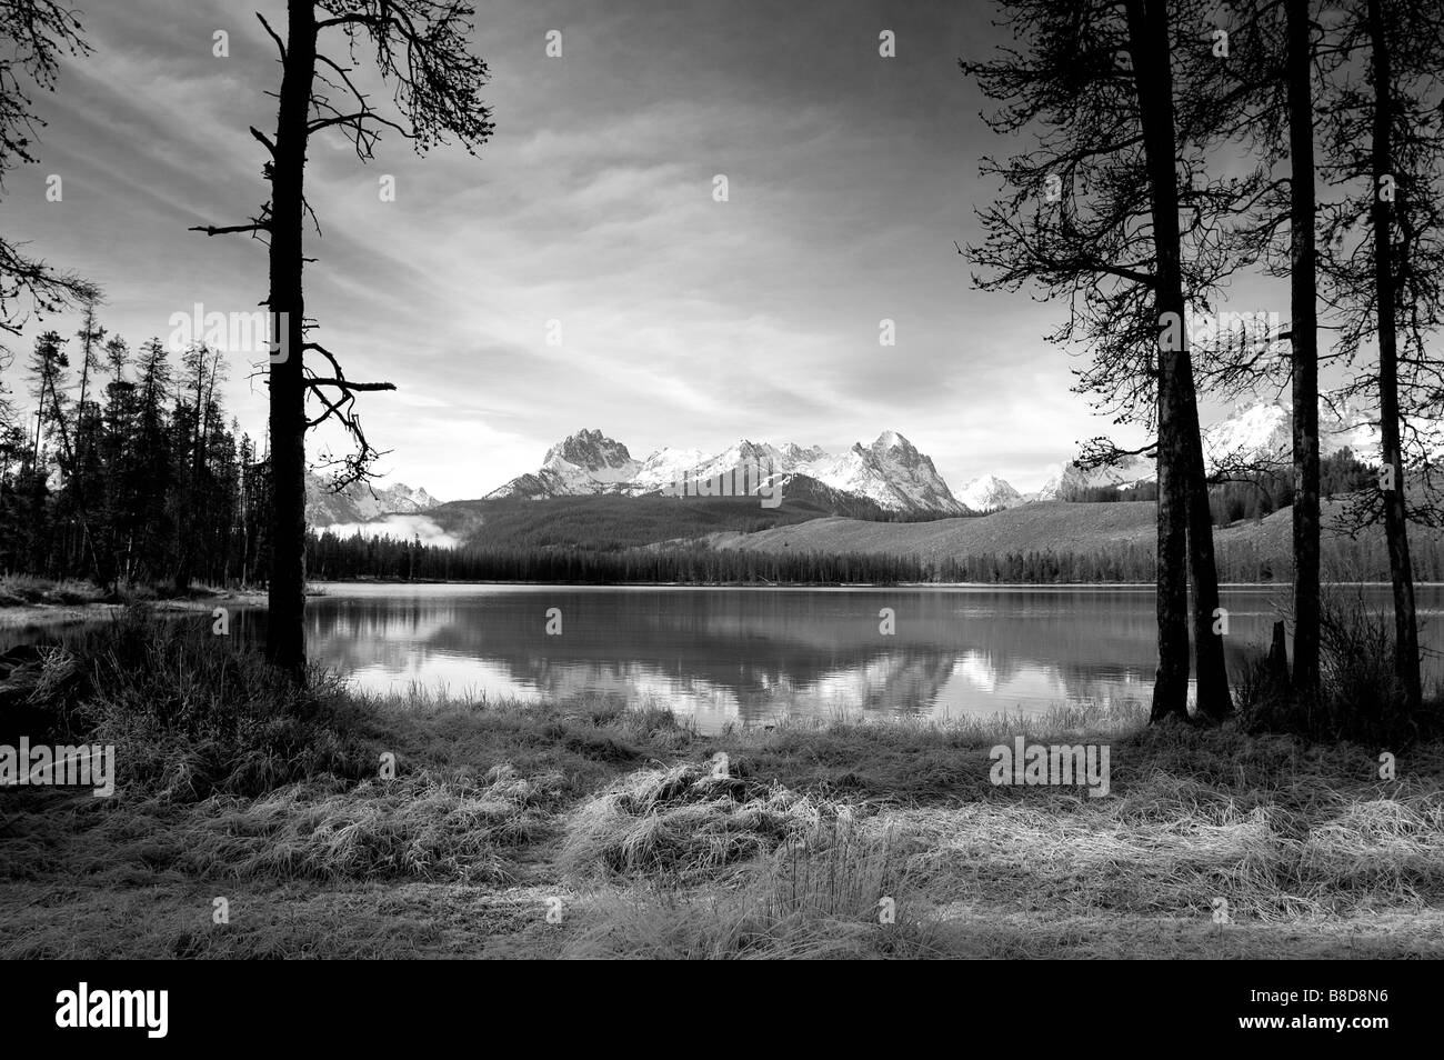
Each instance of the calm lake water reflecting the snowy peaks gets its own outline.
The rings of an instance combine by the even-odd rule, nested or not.
[[[788,713],[1147,705],[1155,666],[1151,588],[322,588],[308,601],[310,656],[362,687],[417,682],[526,700],[611,693],[695,715],[705,729]],[[1388,609],[1386,586],[1362,592]],[[1230,669],[1266,648],[1288,595],[1225,591]],[[559,634],[547,634],[550,608]],[[879,633],[882,608],[895,614],[892,635]],[[1421,588],[1431,683],[1444,679],[1441,614],[1444,588]]]

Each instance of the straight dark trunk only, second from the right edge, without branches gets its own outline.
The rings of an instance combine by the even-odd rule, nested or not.
[[[1294,692],[1318,695],[1318,308],[1310,0],[1288,0],[1289,316],[1294,374]]]

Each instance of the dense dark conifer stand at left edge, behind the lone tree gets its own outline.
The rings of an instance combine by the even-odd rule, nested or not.
[[[264,581],[270,475],[227,422],[221,355],[199,344],[176,360],[157,338],[131,349],[94,305],[82,319],[36,339],[32,412],[0,406],[0,570],[113,591]]]

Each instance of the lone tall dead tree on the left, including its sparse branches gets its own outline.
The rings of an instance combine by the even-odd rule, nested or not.
[[[260,14],[280,53],[282,82],[276,130],[251,136],[267,150],[270,201],[243,224],[198,227],[206,235],[245,233],[269,243],[271,318],[270,471],[271,569],[266,651],[271,663],[302,679],[305,640],[306,430],[335,419],[351,435],[355,452],[344,461],[336,487],[368,477],[378,455],[361,430],[355,396],[393,390],[390,383],[355,383],[341,361],[310,339],[303,271],[303,228],[315,220],[305,195],[306,150],[318,133],[335,130],[367,162],[386,130],[407,139],[417,153],[456,140],[475,153],[492,130],[491,110],[478,92],[487,65],[471,53],[475,10],[455,0],[287,0],[286,36]],[[344,52],[332,49],[339,45]],[[396,117],[375,110],[348,65],[370,52],[383,79],[394,87]],[[335,55],[347,56],[347,61]],[[325,374],[306,364],[325,362]],[[306,401],[321,410],[308,416]]]

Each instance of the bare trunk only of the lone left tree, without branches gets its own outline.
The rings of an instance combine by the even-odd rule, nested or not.
[[[284,74],[271,168],[270,365],[271,570],[266,654],[297,680],[306,667],[306,391],[302,375],[303,182],[316,68],[313,0],[289,0]]]

